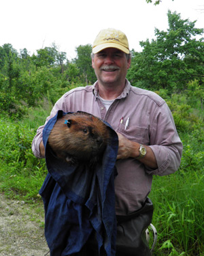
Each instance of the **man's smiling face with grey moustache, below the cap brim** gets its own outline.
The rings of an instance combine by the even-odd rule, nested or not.
[[[126,54],[116,48],[106,48],[95,53],[92,59],[92,68],[99,81],[99,85],[124,86],[126,72],[131,65],[131,59],[126,59]]]

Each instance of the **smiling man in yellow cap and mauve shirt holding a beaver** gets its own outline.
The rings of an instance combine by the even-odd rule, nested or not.
[[[177,171],[182,156],[182,142],[165,100],[151,91],[131,86],[126,80],[130,65],[131,56],[126,35],[116,29],[100,31],[92,46],[92,68],[95,69],[97,82],[68,91],[56,102],[46,120],[48,122],[58,110],[66,113],[86,111],[104,119],[116,130],[119,147],[116,161],[118,175],[114,182],[115,208],[118,223],[129,222],[126,225],[128,228],[124,225],[122,231],[118,225],[116,255],[122,255],[120,241],[134,240],[134,232],[141,229],[142,235],[147,225],[146,223],[143,227],[137,227],[143,222],[137,220],[138,214],[128,218],[128,221],[124,218],[122,222],[120,216],[132,216],[134,212],[145,209],[150,203],[148,194],[152,175],[168,175]],[[45,156],[43,129],[44,126],[38,128],[32,144],[33,153],[39,158]],[[150,214],[149,222],[151,218]],[[130,229],[134,231],[132,234]],[[130,234],[125,235],[129,231]],[[127,249],[125,255],[150,255],[145,242],[139,242],[138,246],[134,244],[135,242],[135,253],[128,254]]]

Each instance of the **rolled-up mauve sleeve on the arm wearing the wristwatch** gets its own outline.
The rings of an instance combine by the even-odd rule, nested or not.
[[[158,169],[147,169],[148,173],[163,176],[177,171],[180,167],[183,145],[166,103],[152,119],[150,147],[154,152]]]

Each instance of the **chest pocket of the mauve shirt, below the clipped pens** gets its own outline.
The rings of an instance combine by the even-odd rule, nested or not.
[[[149,145],[150,139],[148,135],[148,128],[139,126],[127,126],[125,130],[124,124],[119,124],[116,132],[121,133],[127,139],[141,143],[144,145]]]

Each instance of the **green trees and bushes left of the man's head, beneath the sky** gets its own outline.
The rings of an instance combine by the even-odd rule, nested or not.
[[[90,51],[90,45],[79,46],[78,58],[69,63],[55,44],[32,56],[26,48],[18,55],[11,44],[0,46],[1,111],[20,119],[44,98],[54,104],[70,88],[93,81]]]

